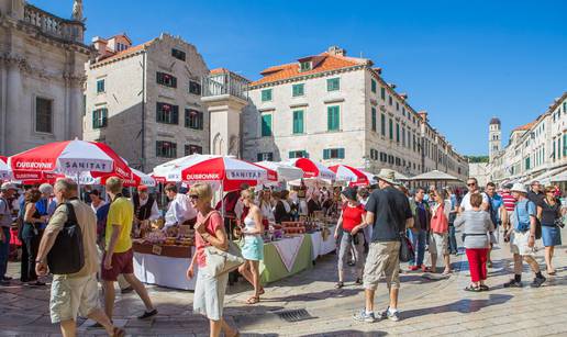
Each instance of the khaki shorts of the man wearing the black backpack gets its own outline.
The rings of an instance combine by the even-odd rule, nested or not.
[[[78,314],[88,317],[99,307],[96,273],[84,278],[53,277],[49,299],[52,323],[76,321]]]

